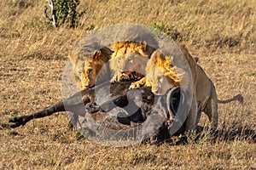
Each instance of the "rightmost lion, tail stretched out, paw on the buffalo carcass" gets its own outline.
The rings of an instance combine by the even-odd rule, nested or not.
[[[189,115],[184,124],[185,130],[195,129],[200,121],[201,112],[204,112],[211,122],[212,130],[215,131],[218,128],[218,103],[224,104],[234,100],[242,103],[243,99],[238,94],[232,99],[219,100],[212,80],[207,77],[205,71],[198,65],[198,58],[193,58],[184,45],[179,47],[189,64],[193,79],[193,99]],[[164,56],[158,50],[151,55],[145,70],[146,77],[131,83],[130,88],[148,86],[152,88],[154,94],[160,95],[165,94],[169,88],[180,86],[181,77],[177,75],[175,66],[172,65],[172,57]]]

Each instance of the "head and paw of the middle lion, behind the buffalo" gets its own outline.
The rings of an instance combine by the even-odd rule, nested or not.
[[[109,60],[110,69],[113,71],[113,77],[110,82],[120,82],[125,78],[130,81],[131,79],[136,80],[142,78],[143,72],[135,70],[138,68],[138,64],[140,68],[145,68],[147,62],[143,60],[150,57],[154,52],[154,48],[146,42],[122,41],[113,43],[113,51]],[[135,63],[132,61],[136,59],[141,61],[137,65],[134,65]],[[130,64],[130,66],[127,64]]]

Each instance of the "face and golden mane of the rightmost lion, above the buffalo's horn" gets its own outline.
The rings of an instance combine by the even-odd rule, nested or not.
[[[166,90],[179,86],[177,72],[172,66],[172,58],[155,51],[146,66],[147,81],[154,94],[163,95]]]

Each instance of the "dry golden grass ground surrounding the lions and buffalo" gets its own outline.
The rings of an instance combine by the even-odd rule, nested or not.
[[[160,145],[96,145],[68,129],[66,113],[0,127],[0,169],[255,169],[256,2],[81,0],[79,26],[53,28],[44,1],[1,0],[0,123],[62,99],[67,54],[91,31],[117,23],[154,26],[187,45],[212,78],[219,99],[217,139],[206,132]],[[206,116],[200,122],[207,126]],[[254,135],[254,138],[253,138]],[[196,138],[196,139],[195,139]]]

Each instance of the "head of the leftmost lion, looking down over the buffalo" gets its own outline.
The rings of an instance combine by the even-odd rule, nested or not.
[[[89,54],[81,53],[79,49],[68,56],[73,65],[74,82],[79,85],[81,90],[93,87],[97,80],[108,79],[108,60],[113,51],[107,47],[98,48],[95,44],[84,47]],[[91,53],[92,51],[92,53]],[[101,71],[102,70],[102,71]]]

